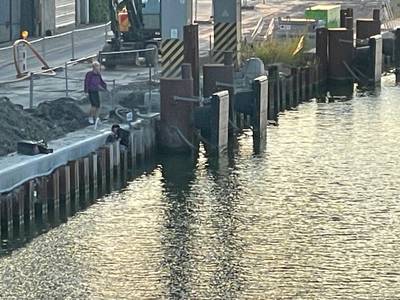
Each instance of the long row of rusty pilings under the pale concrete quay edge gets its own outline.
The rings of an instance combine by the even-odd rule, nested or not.
[[[1,194],[3,243],[23,241],[65,222],[96,199],[124,187],[137,168],[154,154],[155,135],[155,126],[133,129],[128,148],[119,142],[104,145],[48,176],[29,180],[12,192]]]

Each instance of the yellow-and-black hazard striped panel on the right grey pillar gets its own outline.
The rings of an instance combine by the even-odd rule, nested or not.
[[[233,53],[233,60],[237,61],[237,27],[236,23],[214,24],[214,62],[223,63],[224,52]]]

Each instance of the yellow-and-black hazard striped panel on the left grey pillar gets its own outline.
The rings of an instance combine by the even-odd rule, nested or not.
[[[183,45],[183,41],[178,39],[168,39],[161,43],[162,77],[180,77],[181,65],[184,58]]]

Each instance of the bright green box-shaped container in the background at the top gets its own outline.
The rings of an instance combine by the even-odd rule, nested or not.
[[[340,5],[317,5],[306,9],[306,19],[322,21],[326,28],[340,27]]]

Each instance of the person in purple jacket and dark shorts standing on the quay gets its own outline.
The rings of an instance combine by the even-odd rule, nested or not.
[[[100,121],[99,110],[100,110],[100,95],[99,91],[106,91],[107,84],[104,82],[100,74],[100,63],[94,61],[92,63],[93,70],[86,73],[85,76],[85,93],[89,95],[90,111],[89,111],[89,123],[95,124],[95,128]]]

